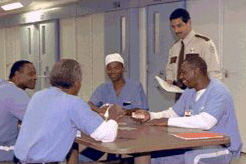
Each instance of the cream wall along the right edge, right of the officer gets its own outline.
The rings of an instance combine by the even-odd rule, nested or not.
[[[234,98],[236,114],[246,152],[246,1],[225,0],[223,62],[228,71],[225,83]]]

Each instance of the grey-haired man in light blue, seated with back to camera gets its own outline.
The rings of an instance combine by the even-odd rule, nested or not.
[[[63,162],[77,130],[95,140],[112,142],[117,136],[121,108],[111,107],[108,121],[77,97],[81,87],[81,67],[72,59],[57,62],[50,73],[52,87],[31,98],[14,153],[25,163]]]

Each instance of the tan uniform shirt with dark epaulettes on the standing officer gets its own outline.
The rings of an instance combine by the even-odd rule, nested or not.
[[[220,58],[213,41],[207,37],[196,34],[193,30],[183,39],[185,50],[184,58],[190,55],[199,55],[208,66],[209,77],[222,79]],[[166,67],[166,79],[177,80],[177,70],[181,40],[178,40],[169,50],[168,63]]]

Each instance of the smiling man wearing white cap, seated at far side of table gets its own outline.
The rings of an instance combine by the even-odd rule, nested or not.
[[[101,84],[92,94],[89,105],[94,111],[104,114],[108,104],[120,105],[123,109],[148,109],[146,95],[140,82],[124,78],[124,59],[118,53],[105,58],[106,73],[111,80]],[[107,105],[105,105],[107,104]]]

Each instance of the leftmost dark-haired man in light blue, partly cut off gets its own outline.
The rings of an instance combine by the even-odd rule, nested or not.
[[[0,162],[14,160],[17,122],[23,119],[30,99],[25,89],[34,89],[36,80],[35,68],[26,60],[13,64],[8,81],[0,79]]]

